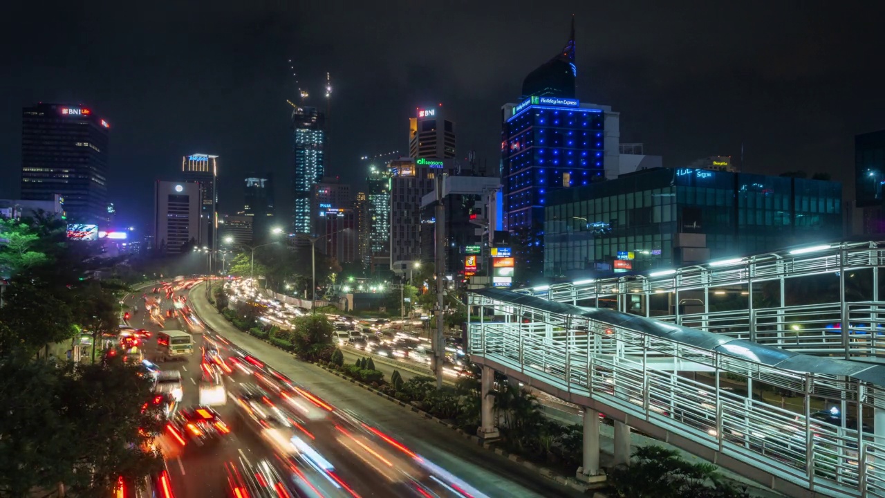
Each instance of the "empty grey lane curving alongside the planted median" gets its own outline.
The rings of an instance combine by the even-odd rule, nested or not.
[[[247,350],[267,366],[306,386],[313,394],[335,405],[337,409],[350,412],[364,423],[392,435],[422,458],[457,476],[482,494],[490,497],[585,496],[554,480],[527,472],[523,465],[460,438],[441,424],[428,421],[409,409],[368,393],[358,385],[335,377],[311,363],[301,362],[292,354],[236,330],[209,303],[204,284],[197,285],[189,292],[189,305],[210,330],[235,346]],[[258,451],[249,440],[243,440],[240,448],[244,452]],[[174,465],[170,465],[170,469],[174,469]],[[188,463],[184,463],[184,471],[188,474],[182,473],[179,477],[190,474]]]

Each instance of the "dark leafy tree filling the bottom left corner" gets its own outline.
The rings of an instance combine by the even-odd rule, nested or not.
[[[27,496],[64,483],[75,496],[109,496],[118,476],[162,469],[150,449],[164,422],[151,383],[119,359],[74,364],[0,363],[0,489]],[[14,387],[14,388],[12,388]],[[142,429],[140,432],[139,429]]]

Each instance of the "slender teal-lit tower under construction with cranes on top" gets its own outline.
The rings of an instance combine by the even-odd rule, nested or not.
[[[292,136],[295,164],[292,195],[295,201],[293,230],[311,233],[311,192],[325,172],[325,116],[315,107],[296,107],[292,111]]]

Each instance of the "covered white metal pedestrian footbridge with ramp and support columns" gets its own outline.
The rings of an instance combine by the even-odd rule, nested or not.
[[[832,273],[836,268],[844,297],[849,266],[860,268],[858,261],[848,257],[856,249],[819,247],[826,253],[817,255],[825,265],[821,268],[819,261],[809,266],[817,267],[815,274]],[[869,245],[859,249],[866,253],[863,264],[877,279],[880,250]],[[781,261],[775,261],[780,273],[772,278],[781,284],[781,294],[789,272],[804,268],[794,260],[781,256]],[[720,266],[727,272],[743,271],[743,276],[729,276],[729,282],[764,278],[749,268],[750,262],[765,261],[744,259]],[[720,270],[712,268],[669,272],[670,289],[686,280],[683,275],[705,272],[700,279],[704,295],[716,295],[711,290],[720,285],[715,280]],[[839,341],[829,354],[836,357],[827,356],[828,348],[820,344],[810,347],[807,353],[812,355],[790,351],[782,342],[788,337],[774,330],[793,330],[790,320],[795,316],[788,310],[777,315],[776,323],[766,323],[770,330],[760,331],[757,323],[752,333],[716,333],[685,326],[686,317],[678,311],[673,314],[675,323],[666,323],[652,318],[648,306],[645,316],[618,308],[575,306],[574,302],[586,300],[589,294],[580,286],[589,284],[568,284],[571,288],[565,291],[556,286],[527,292],[471,291],[467,345],[472,361],[486,367],[484,394],[492,385],[487,375],[491,369],[585,408],[585,477],[598,471],[595,424],[600,412],[615,421],[616,462],[628,458],[629,428],[633,427],[791,496],[885,498],[885,365],[843,359],[858,351],[845,338],[853,338],[855,330],[863,327],[865,331],[857,335],[866,334],[867,343],[859,350],[874,358],[875,346],[870,343],[878,332],[876,323],[870,324],[870,315],[865,315],[863,327],[852,323],[850,333],[834,334]],[[663,285],[648,277],[620,280],[618,290],[608,292],[629,295],[634,293],[630,290],[634,284],[640,285],[646,297]],[[570,294],[573,302],[551,299],[562,293]],[[596,292],[590,299],[602,295]],[[620,307],[620,301],[615,302]],[[879,305],[873,300],[866,306]],[[839,308],[840,317],[850,315],[847,304],[840,303]],[[705,313],[709,319],[709,309]],[[711,328],[709,322],[707,328]],[[772,339],[749,340],[750,336],[760,338],[760,332],[772,332],[765,336]],[[768,394],[766,399],[755,395],[760,390]],[[773,401],[771,393],[775,392],[784,397]],[[481,433],[490,434],[495,423],[489,409],[491,396],[484,396],[483,401]]]

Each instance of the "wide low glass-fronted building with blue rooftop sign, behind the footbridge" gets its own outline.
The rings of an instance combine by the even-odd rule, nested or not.
[[[704,169],[640,171],[547,202],[550,277],[672,268],[685,262],[681,234],[704,234],[720,259],[841,237],[843,226],[841,183]]]

